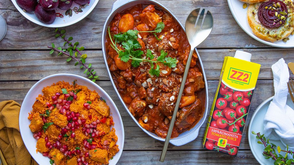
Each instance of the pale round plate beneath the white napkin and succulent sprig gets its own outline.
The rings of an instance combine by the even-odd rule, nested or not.
[[[252,154],[254,155],[255,159],[261,164],[261,165],[269,165],[273,164],[272,159],[265,159],[262,155],[264,146],[263,144],[258,144],[258,139],[256,139],[256,135],[252,134],[251,131],[254,131],[255,133],[260,132],[260,134],[263,134],[263,119],[265,116],[265,113],[268,110],[268,106],[270,105],[270,102],[273,100],[273,96],[265,100],[263,103],[261,103],[255,112],[253,113],[249,126],[248,126],[248,142],[251,149]],[[287,97],[287,105],[289,105],[292,109],[294,109],[294,104],[291,101],[290,95],[288,94]],[[281,149],[286,148],[286,146],[280,141],[280,140],[270,140],[273,144],[280,146]]]

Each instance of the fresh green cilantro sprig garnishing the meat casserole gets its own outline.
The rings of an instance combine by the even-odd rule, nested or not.
[[[157,24],[156,29],[154,31],[140,31],[140,32],[151,32],[156,36],[156,33],[160,33],[162,29],[164,28],[164,23],[160,22]],[[138,38],[138,33],[139,31],[137,30],[128,30],[125,33],[118,33],[111,37],[110,34],[110,28],[108,27],[108,35],[111,40],[111,47],[116,50],[118,53],[118,57],[121,59],[123,62],[128,62],[131,60],[131,64],[133,67],[138,67],[141,62],[149,62],[150,63],[150,70],[149,73],[151,75],[156,75],[159,77],[160,75],[160,67],[159,65],[156,65],[156,68],[154,69],[155,64],[163,64],[165,66],[168,66],[169,68],[175,68],[176,67],[176,58],[171,58],[171,57],[166,57],[167,52],[164,50],[161,50],[161,54],[157,59],[154,59],[154,55],[152,54],[151,50],[147,49],[146,52],[146,57],[149,59],[142,59],[142,55],[144,52],[140,50],[141,45],[137,41]],[[156,36],[157,38],[157,36]],[[115,41],[113,42],[113,39]],[[123,50],[120,50],[117,46],[116,43],[120,43],[122,47],[124,48]]]

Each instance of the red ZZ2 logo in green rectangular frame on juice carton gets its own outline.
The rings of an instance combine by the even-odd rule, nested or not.
[[[239,70],[235,68],[230,68],[228,79],[237,81],[240,83],[249,84],[250,77],[251,77],[250,72],[246,72],[244,70]]]

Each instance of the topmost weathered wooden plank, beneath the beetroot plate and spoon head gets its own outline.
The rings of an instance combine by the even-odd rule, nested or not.
[[[82,43],[87,49],[101,49],[103,25],[111,12],[114,1],[100,0],[91,14],[82,21],[65,28],[67,36],[72,36],[74,41]],[[159,2],[170,9],[183,24],[190,11],[196,7],[205,7],[213,13],[214,29],[198,48],[270,47],[251,38],[240,28],[233,18],[226,0],[161,0]],[[42,27],[29,21],[16,10],[11,1],[1,1],[0,9],[8,26],[7,34],[0,42],[2,50],[47,49],[46,46],[52,42],[62,43],[60,38],[57,40],[54,38],[53,28]]]

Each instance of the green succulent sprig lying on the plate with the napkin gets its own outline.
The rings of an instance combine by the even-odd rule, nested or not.
[[[251,132],[252,134],[256,135],[256,139],[259,139],[258,144],[263,144],[265,149],[263,150],[263,156],[265,159],[273,159],[275,162],[273,163],[274,165],[291,165],[294,164],[294,159],[288,158],[288,154],[293,155],[294,151],[289,150],[288,145],[287,145],[287,150],[282,150],[280,146],[276,146],[273,143],[269,142],[269,139],[266,139],[264,137],[264,134],[260,135],[260,132],[255,133],[254,131]],[[276,149],[275,149],[276,147]],[[278,153],[277,153],[277,151]],[[280,152],[283,151],[285,152],[285,156],[281,155]]]

